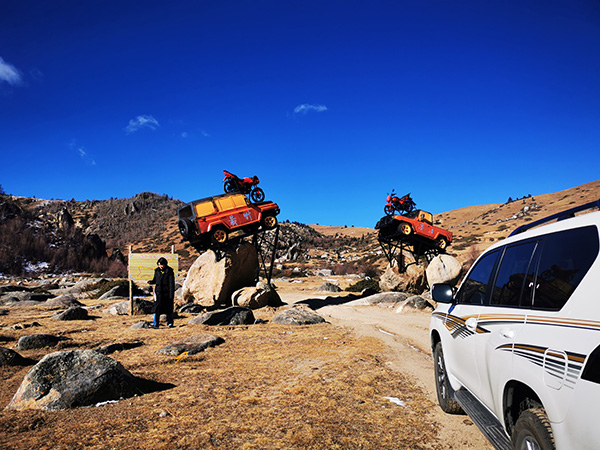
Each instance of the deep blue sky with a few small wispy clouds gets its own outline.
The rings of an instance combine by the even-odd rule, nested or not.
[[[0,185],[374,227],[599,178],[596,0],[0,0]]]

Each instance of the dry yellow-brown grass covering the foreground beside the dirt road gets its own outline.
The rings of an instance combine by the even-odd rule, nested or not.
[[[434,405],[386,367],[377,339],[331,324],[206,327],[181,318],[173,329],[134,330],[131,325],[145,317],[97,312],[95,320],[57,322],[53,313],[11,308],[0,318],[3,326],[33,321],[41,326],[0,334],[16,339],[60,333],[72,339],[63,349],[141,340],[143,346],[111,357],[136,376],[174,387],[100,407],[2,410],[0,448],[444,448],[429,417]],[[269,319],[272,313],[257,315]],[[156,353],[201,333],[225,343],[179,359]],[[55,350],[21,353],[38,360]],[[10,402],[28,369],[0,368],[0,406]],[[384,397],[397,397],[406,407]]]

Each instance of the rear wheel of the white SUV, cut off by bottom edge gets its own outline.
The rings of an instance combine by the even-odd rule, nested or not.
[[[515,450],[554,450],[554,435],[544,408],[521,413],[512,433]]]

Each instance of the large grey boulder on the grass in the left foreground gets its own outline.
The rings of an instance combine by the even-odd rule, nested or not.
[[[55,352],[32,367],[6,408],[56,411],[132,397],[138,389],[135,377],[108,356]]]

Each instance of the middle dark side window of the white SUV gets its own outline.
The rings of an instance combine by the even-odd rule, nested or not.
[[[507,247],[500,262],[490,304],[519,306],[536,241]],[[528,281],[533,284],[533,277]]]

